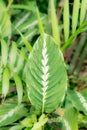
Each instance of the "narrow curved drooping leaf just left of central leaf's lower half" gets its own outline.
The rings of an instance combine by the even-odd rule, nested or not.
[[[22,97],[23,97],[23,85],[20,77],[16,73],[14,74],[14,81],[16,83],[16,88],[17,88],[18,103],[20,104],[22,102]]]

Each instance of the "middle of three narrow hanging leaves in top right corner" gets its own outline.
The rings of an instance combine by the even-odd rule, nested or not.
[[[80,8],[80,0],[74,0],[73,14],[72,14],[72,33],[75,32],[78,24],[79,8]]]

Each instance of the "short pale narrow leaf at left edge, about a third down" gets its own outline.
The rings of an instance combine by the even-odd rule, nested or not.
[[[8,46],[5,40],[1,40],[1,61],[4,66],[7,65],[7,58],[8,58]]]

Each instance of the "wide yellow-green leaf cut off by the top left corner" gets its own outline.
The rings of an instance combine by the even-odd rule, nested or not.
[[[0,38],[7,37],[11,34],[10,16],[6,10],[4,2],[0,1]]]

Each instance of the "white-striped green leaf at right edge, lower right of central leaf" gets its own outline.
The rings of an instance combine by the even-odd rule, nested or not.
[[[68,91],[68,99],[72,102],[73,106],[79,111],[83,111],[87,115],[87,95],[81,94],[77,91]]]

